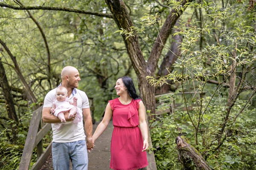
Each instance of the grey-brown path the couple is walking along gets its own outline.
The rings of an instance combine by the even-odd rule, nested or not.
[[[99,122],[93,125],[93,133],[96,130]],[[110,143],[113,131],[113,123],[109,122],[107,129],[95,142],[93,150],[88,152],[89,165],[88,170],[109,170],[110,164]],[[53,170],[52,167],[52,155],[50,155],[45,162],[41,170]],[[72,170],[72,164],[70,163],[70,170]]]

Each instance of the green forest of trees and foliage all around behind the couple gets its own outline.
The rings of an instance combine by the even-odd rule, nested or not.
[[[256,0],[0,0],[1,170],[67,65],[96,121],[134,80],[157,170],[256,170]]]

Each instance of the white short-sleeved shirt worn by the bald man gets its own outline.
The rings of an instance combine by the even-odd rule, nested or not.
[[[55,99],[56,89],[53,89],[47,93],[44,98],[43,108],[51,107],[53,99]],[[73,102],[73,96],[77,97],[77,107],[81,110],[84,108],[90,108],[89,100],[84,91],[73,89],[73,93],[70,95],[68,101]],[[61,127],[59,130],[55,130],[54,124],[52,124],[52,142],[66,143],[66,142],[76,142],[79,140],[84,140],[84,125],[83,121],[66,125]]]

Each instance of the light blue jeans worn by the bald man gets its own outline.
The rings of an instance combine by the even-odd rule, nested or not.
[[[52,164],[54,170],[69,170],[70,160],[73,170],[88,169],[85,140],[70,143],[52,142]]]

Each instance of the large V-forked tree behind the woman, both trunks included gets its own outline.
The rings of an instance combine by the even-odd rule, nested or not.
[[[124,29],[131,32],[131,27],[133,27],[134,25],[125,6],[125,3],[122,0],[105,0],[105,2],[107,3],[108,8],[113,14],[113,19],[115,20],[118,28],[120,30]],[[127,34],[122,34],[123,40],[125,42],[125,47],[138,77],[140,94],[145,102],[146,108],[148,110],[151,110],[151,114],[148,115],[149,119],[154,118],[153,114],[155,113],[155,89],[153,86],[149,85],[146,77],[154,77],[157,62],[160,58],[160,54],[164,48],[165,43],[169,38],[169,35],[171,34],[172,28],[190,2],[192,2],[192,0],[180,1],[180,8],[173,8],[170,11],[169,16],[166,18],[165,23],[163,24],[159,34],[157,35],[147,62],[143,57],[143,53],[140,49],[139,39],[135,32],[134,36],[131,37],[128,37]]]

